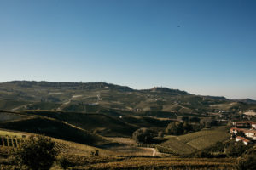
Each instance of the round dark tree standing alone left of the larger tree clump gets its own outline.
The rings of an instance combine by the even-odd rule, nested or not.
[[[148,128],[139,128],[132,133],[132,138],[138,143],[151,143],[155,136],[155,133]]]

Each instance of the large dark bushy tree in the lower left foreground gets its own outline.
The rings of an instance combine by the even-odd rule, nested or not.
[[[32,170],[49,169],[55,161],[55,142],[42,135],[30,136],[15,150],[15,160]]]

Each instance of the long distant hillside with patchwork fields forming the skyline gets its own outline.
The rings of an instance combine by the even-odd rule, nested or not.
[[[234,102],[239,105],[228,106]],[[137,113],[156,116],[164,112],[166,117],[173,117],[173,113],[207,114],[217,109],[239,112],[254,108],[256,102],[251,99],[230,100],[162,87],[136,90],[106,82],[0,83],[0,110],[8,111],[72,111],[115,116]]]

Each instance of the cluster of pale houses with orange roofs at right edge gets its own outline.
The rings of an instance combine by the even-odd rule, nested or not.
[[[232,122],[230,133],[236,136],[236,142],[242,141],[243,144],[253,144],[256,142],[256,122]]]

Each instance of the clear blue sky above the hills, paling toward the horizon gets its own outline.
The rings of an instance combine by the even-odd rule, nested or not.
[[[0,0],[0,82],[256,99],[254,0]]]

